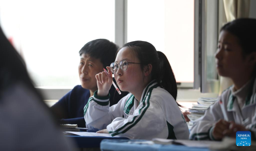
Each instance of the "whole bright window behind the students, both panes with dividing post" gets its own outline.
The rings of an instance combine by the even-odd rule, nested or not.
[[[217,40],[218,31],[212,30],[218,22],[216,4],[211,0],[1,0],[0,23],[36,86],[57,86],[62,91],[80,84],[79,50],[90,40],[105,38],[119,46],[134,40],[152,43],[166,54],[177,82],[202,88],[217,78],[212,65],[215,42],[209,45]],[[67,92],[48,90],[54,96],[49,99]]]

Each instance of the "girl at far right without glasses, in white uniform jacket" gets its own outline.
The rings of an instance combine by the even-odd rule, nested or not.
[[[221,28],[215,54],[218,74],[230,77],[227,88],[191,129],[192,140],[236,138],[237,131],[256,134],[256,20],[238,19]]]

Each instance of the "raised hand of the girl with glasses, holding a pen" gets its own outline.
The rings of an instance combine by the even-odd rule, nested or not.
[[[107,96],[108,91],[111,88],[111,85],[113,83],[113,78],[112,78],[112,72],[110,70],[110,67],[107,67],[109,73],[107,71],[100,72],[99,74],[96,74],[96,80],[97,80],[97,85],[98,85],[98,94],[99,96]],[[105,70],[105,69],[104,69]],[[114,85],[118,93],[120,92],[119,89]],[[121,92],[119,93],[121,94]]]

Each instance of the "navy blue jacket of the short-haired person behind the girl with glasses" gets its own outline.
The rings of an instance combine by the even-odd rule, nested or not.
[[[113,85],[109,93],[111,106],[128,94],[128,92],[122,92],[119,95]],[[89,97],[90,90],[82,88],[81,85],[76,85],[57,103],[52,105],[51,110],[59,119],[60,124],[77,124],[78,127],[85,128],[84,106],[87,104]]]

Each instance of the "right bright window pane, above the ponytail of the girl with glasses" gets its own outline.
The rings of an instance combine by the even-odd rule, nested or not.
[[[152,43],[166,54],[177,82],[194,82],[194,1],[128,0],[127,41]]]

